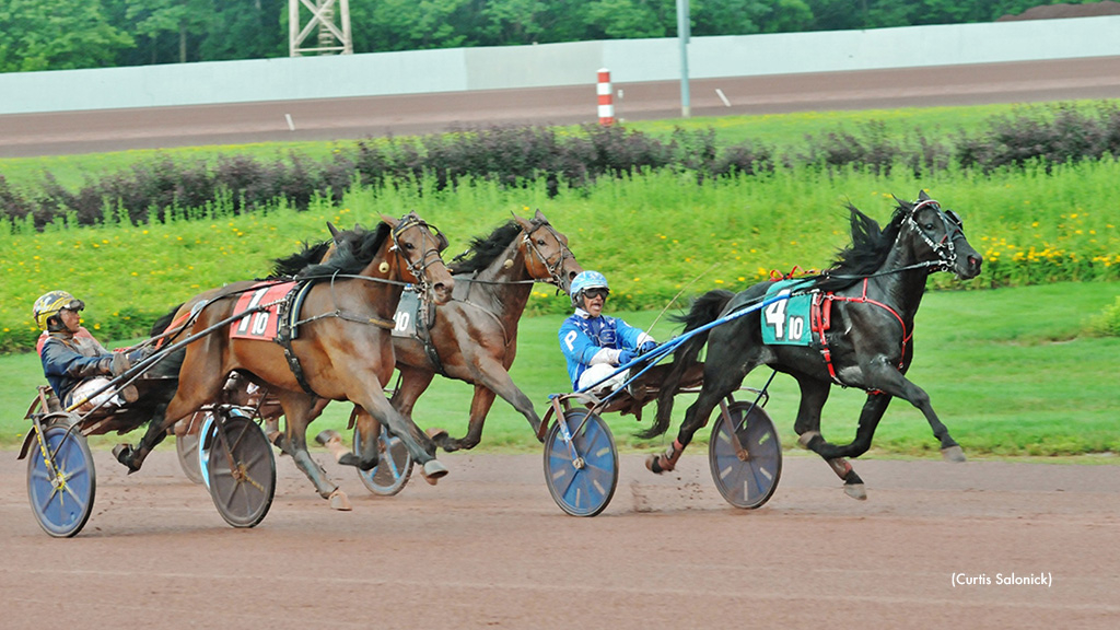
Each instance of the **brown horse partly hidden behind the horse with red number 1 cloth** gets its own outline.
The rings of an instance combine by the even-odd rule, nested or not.
[[[510,378],[517,354],[517,321],[534,282],[549,282],[567,293],[582,270],[568,249],[568,238],[540,211],[532,220],[514,215],[489,237],[475,239],[470,249],[451,262],[455,299],[435,308],[435,322],[423,335],[427,339],[393,337],[401,373],[393,407],[411,418],[417,399],[439,373],[475,386],[464,437],[451,438],[442,429],[428,432],[445,451],[478,444],[495,395],[521,413],[534,435],[540,435],[541,419],[533,404]]]

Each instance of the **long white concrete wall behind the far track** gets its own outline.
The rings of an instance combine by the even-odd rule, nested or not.
[[[0,114],[680,78],[676,39],[0,74]],[[1120,16],[694,37],[692,78],[1120,56]]]

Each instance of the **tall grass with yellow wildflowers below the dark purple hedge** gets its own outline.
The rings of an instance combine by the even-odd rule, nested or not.
[[[16,233],[0,230],[0,349],[30,348],[37,330],[30,305],[65,287],[88,305],[87,326],[109,340],[139,336],[158,315],[206,288],[261,277],[271,259],[300,241],[326,237],[332,221],[371,224],[377,213],[417,210],[451,238],[449,256],[469,239],[541,209],[569,235],[588,268],[606,272],[618,308],[660,308],[692,287],[741,288],[772,270],[823,268],[847,244],[848,202],[886,222],[892,194],[914,198],[926,187],[961,212],[970,242],[984,256],[982,275],[964,285],[1120,279],[1120,163],[1060,168],[1053,175],[1014,172],[977,178],[958,174],[918,182],[783,170],[698,186],[689,174],[659,172],[605,179],[549,198],[543,185],[503,189],[489,182],[419,195],[413,187],[363,189],[343,207],[278,209],[192,221],[115,224]],[[935,280],[956,286],[950,276]],[[694,282],[694,284],[692,284]],[[533,295],[534,313],[558,313],[551,293]],[[134,325],[130,326],[130,323]]]

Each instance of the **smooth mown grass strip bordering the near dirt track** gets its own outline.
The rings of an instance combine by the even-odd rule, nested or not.
[[[1086,314],[1113,302],[1116,285],[1058,284],[991,291],[935,291],[925,297],[916,323],[915,361],[909,378],[925,389],[942,420],[971,456],[1065,456],[1085,453],[1120,453],[1116,410],[1120,389],[1120,339],[1075,336]],[[559,299],[559,298],[558,298]],[[650,326],[657,312],[620,314],[629,323]],[[562,316],[523,318],[514,381],[543,415],[549,393],[567,391],[567,373],[556,331]],[[664,341],[675,334],[666,317],[651,331]],[[21,419],[35,386],[43,382],[32,354],[0,356],[0,404],[18,410],[0,418],[0,445],[12,446],[27,429]],[[760,387],[768,372],[756,370],[749,386]],[[792,379],[778,376],[767,410],[778,426],[783,444],[795,443],[793,420],[797,389]],[[440,426],[455,436],[466,432],[472,388],[437,378],[416,409],[422,427]],[[822,428],[833,442],[855,436],[856,420],[865,395],[834,388],[825,406]],[[623,450],[661,447],[675,435],[688,397],[678,400],[675,420],[665,438],[642,442],[634,433],[646,418],[607,418]],[[342,430],[349,407],[335,404],[312,428]],[[647,408],[653,414],[653,407]],[[707,429],[698,434],[707,442]],[[137,436],[132,436],[134,439]],[[108,446],[118,436],[94,438]],[[525,420],[498,400],[483,434],[482,451],[535,452]],[[698,448],[701,446],[696,446]],[[936,456],[937,444],[922,415],[904,401],[888,409],[875,439],[880,455]]]

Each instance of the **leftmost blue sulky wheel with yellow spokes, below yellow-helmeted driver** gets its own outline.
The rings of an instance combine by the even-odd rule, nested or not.
[[[27,495],[39,527],[56,538],[69,538],[90,519],[96,493],[93,454],[85,436],[69,423],[44,425],[46,452],[38,441],[27,458]]]

